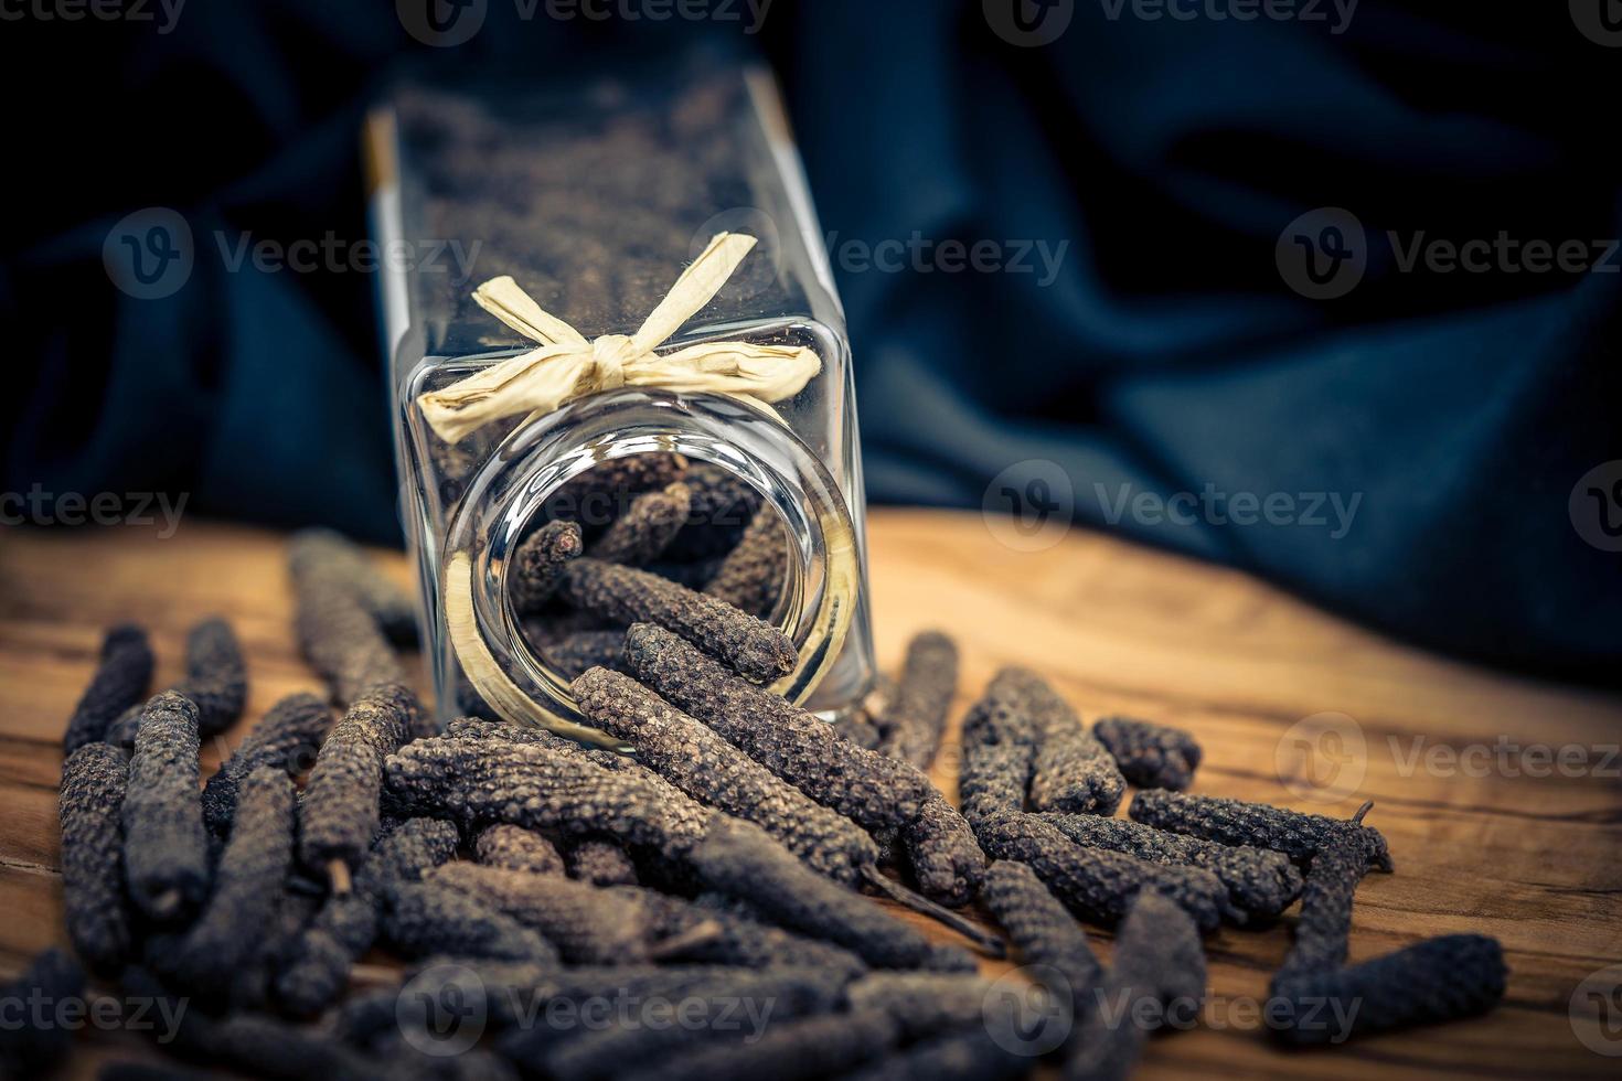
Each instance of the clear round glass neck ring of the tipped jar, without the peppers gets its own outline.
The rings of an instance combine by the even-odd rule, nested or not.
[[[805,702],[839,658],[861,570],[850,512],[817,455],[774,415],[736,399],[624,387],[514,429],[469,478],[449,523],[440,590],[456,663],[506,720],[597,736],[581,728],[568,676],[524,634],[508,575],[560,488],[613,459],[657,452],[732,473],[761,494],[761,512],[782,519],[787,570],[767,619],[795,643],[800,663],[774,690]],[[454,686],[444,676],[441,690]]]

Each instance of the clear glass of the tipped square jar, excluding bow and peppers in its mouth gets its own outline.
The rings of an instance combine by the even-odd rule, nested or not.
[[[631,455],[652,455],[660,480],[701,470],[741,483],[759,506],[699,522],[694,504],[676,540],[699,556],[659,567],[694,588],[717,566],[717,538],[736,541],[754,512],[780,520],[777,582],[757,614],[790,637],[800,664],[775,689],[829,716],[856,708],[874,661],[850,347],[770,78],[697,58],[560,91],[415,79],[373,112],[367,143],[401,506],[441,718],[483,713],[590,737],[577,728],[574,673],[553,655],[561,639],[547,637],[547,627],[586,624],[517,611],[516,553],[550,519],[573,517],[590,554],[592,536],[639,493],[613,491],[595,511],[560,506],[592,491],[594,476],[620,475],[610,464]],[[728,394],[620,386],[501,417],[454,442],[428,423],[423,394],[537,345],[472,301],[480,282],[511,276],[586,339],[633,334],[728,232],[757,246],[655,352],[809,348],[819,370],[792,397],[761,408]]]

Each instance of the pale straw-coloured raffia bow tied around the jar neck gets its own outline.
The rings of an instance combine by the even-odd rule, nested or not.
[[[754,243],[754,237],[743,233],[717,235],[631,335],[603,334],[587,340],[545,311],[511,277],[493,277],[474,290],[474,301],[540,342],[540,348],[491,365],[443,391],[422,394],[417,405],[435,433],[451,444],[493,420],[514,413],[540,417],[586,394],[621,386],[727,394],[775,417],[769,402],[793,397],[822,370],[813,350],[706,342],[675,353],[654,352],[720,292]]]

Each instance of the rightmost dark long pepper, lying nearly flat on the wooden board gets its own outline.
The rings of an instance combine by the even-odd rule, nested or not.
[[[1504,948],[1486,935],[1440,935],[1338,969],[1273,979],[1272,997],[1291,1044],[1330,1044],[1367,1032],[1484,1013],[1504,998]],[[1325,1005],[1327,1003],[1327,1005]]]

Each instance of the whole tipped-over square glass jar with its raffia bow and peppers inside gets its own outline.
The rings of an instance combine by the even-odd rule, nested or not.
[[[569,681],[624,630],[555,588],[581,549],[774,624],[798,650],[775,689],[856,708],[874,664],[850,347],[770,78],[418,79],[368,151],[440,715],[581,734]]]

